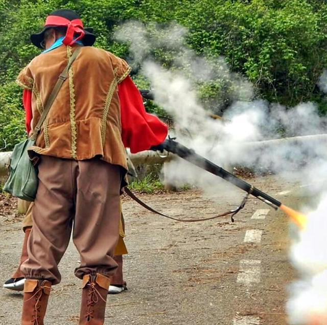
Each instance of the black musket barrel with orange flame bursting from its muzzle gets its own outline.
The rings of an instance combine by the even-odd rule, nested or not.
[[[206,170],[207,172],[219,176],[225,179],[226,181],[236,185],[239,189],[264,201],[265,203],[273,207],[275,210],[277,210],[278,207],[281,208],[281,210],[284,211],[289,217],[291,217],[291,219],[295,221],[295,223],[300,228],[303,228],[305,226],[307,222],[307,217],[305,215],[293,210],[292,208],[284,205],[282,202],[253,187],[253,185],[247,183],[241,178],[229,173],[222,167],[214,164],[212,161],[200,156],[194,150],[181,145],[180,143],[175,141],[175,138],[166,139],[160,146],[162,146],[161,148],[166,150],[167,152],[174,153],[180,158],[191,162],[191,164],[198,166]]]

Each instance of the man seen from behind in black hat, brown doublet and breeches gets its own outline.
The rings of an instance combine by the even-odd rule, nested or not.
[[[125,147],[132,153],[147,150],[167,136],[167,125],[146,113],[128,64],[91,47],[95,39],[77,13],[56,10],[46,18],[43,31],[31,35],[32,43],[45,51],[17,78],[33,130],[67,61],[81,47],[35,146],[29,148],[39,185],[28,260],[20,268],[26,277],[22,325],[43,325],[72,231],[81,260],[75,269],[83,288],[79,324],[104,323],[110,276],[117,268],[113,254],[126,185]]]

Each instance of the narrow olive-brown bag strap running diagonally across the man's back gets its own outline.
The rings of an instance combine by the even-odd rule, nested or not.
[[[39,119],[39,121],[37,122],[37,125],[33,131],[33,134],[31,136],[31,140],[36,140],[36,137],[38,136],[41,126],[46,118],[46,115],[48,114],[55,98],[58,95],[58,92],[63,84],[63,82],[67,79],[67,73],[69,70],[69,67],[71,67],[72,63],[75,61],[75,59],[77,58],[79,52],[81,51],[82,47],[78,47],[74,53],[71,56],[71,59],[69,59],[68,64],[66,65],[66,67],[64,68],[63,72],[59,75],[57,83],[55,84],[55,86],[53,87],[51,94],[49,96],[48,102],[46,102],[43,112],[41,114],[41,117]]]

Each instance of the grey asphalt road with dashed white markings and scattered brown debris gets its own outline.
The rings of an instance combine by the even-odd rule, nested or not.
[[[250,181],[293,208],[307,200],[299,184],[274,176]],[[289,191],[289,192],[288,192]],[[226,188],[143,195],[154,208],[180,218],[212,217],[236,207],[243,192]],[[124,199],[124,274],[128,291],[109,295],[105,324],[286,325],[287,286],[296,276],[288,263],[288,217],[250,198],[232,223],[229,217],[181,223],[153,215]],[[0,282],[17,266],[23,234],[21,216],[0,215]],[[45,324],[78,323],[81,282],[74,277],[79,256],[71,243],[60,264],[62,282],[53,287]],[[19,324],[22,294],[0,288],[0,324]]]

